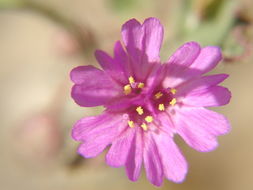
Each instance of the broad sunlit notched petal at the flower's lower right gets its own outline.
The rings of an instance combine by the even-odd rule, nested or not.
[[[204,108],[178,109],[174,118],[177,133],[192,148],[208,152],[218,146],[216,136],[229,132],[227,119]]]

